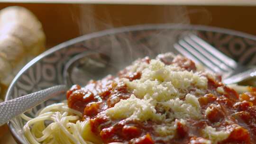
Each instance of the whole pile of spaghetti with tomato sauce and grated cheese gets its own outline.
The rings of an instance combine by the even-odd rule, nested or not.
[[[235,89],[183,56],[160,54],[21,117],[31,144],[255,143],[255,89]]]

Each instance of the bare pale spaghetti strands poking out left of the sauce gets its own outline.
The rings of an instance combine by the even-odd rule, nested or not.
[[[79,120],[82,113],[68,108],[66,103],[47,106],[35,118],[24,114],[21,117],[27,121],[23,131],[31,144],[92,144],[82,137],[83,128],[88,124]]]

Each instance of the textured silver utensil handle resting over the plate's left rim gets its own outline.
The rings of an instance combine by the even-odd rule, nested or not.
[[[0,126],[47,99],[64,93],[66,90],[66,85],[57,85],[0,103]]]

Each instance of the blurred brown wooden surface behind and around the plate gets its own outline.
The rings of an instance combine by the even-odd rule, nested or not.
[[[0,3],[0,9],[13,5],[30,9],[42,22],[47,47],[111,27],[146,23],[191,23],[256,35],[256,7]],[[15,144],[6,126],[0,127],[0,144]]]

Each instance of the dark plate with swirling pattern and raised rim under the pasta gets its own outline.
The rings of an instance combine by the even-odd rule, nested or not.
[[[18,72],[6,100],[62,84],[65,63],[76,54],[93,50],[107,54],[122,69],[138,57],[174,52],[174,43],[186,33],[195,33],[241,64],[256,64],[256,36],[241,32],[195,25],[157,24],[121,27],[80,36],[40,54]],[[40,108],[60,102],[65,96],[49,99],[26,114],[34,117]],[[18,144],[29,144],[23,135],[24,121],[18,116],[8,125]]]

